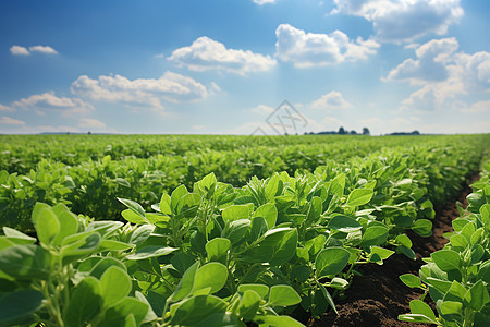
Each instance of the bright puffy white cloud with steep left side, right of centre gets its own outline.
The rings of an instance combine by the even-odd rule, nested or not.
[[[367,59],[379,48],[379,44],[372,39],[363,40],[358,37],[355,41],[350,40],[341,31],[330,34],[306,33],[290,24],[279,25],[275,36],[275,56],[282,61],[293,62],[297,68]]]

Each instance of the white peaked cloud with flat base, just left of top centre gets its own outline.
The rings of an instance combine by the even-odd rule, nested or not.
[[[226,49],[223,44],[206,36],[199,37],[188,47],[176,49],[168,60],[192,71],[218,70],[240,75],[268,71],[277,64],[269,56],[250,50]]]

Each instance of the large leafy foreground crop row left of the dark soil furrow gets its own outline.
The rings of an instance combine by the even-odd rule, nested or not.
[[[432,203],[479,167],[480,143],[452,141],[238,189],[211,173],[151,210],[120,198],[125,225],[37,203],[39,244],[0,237],[0,325],[302,326],[291,314],[335,311],[360,265],[415,258],[404,231],[430,235]]]

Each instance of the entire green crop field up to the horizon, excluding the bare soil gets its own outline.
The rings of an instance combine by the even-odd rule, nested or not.
[[[302,326],[479,172],[400,319],[490,319],[488,134],[0,141],[0,326]]]

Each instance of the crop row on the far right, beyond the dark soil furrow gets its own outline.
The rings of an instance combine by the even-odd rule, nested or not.
[[[490,326],[490,160],[482,167],[479,181],[467,196],[468,207],[460,208],[453,220],[449,243],[425,258],[419,276],[401,276],[405,284],[424,291],[411,302],[405,322],[438,326]],[[429,294],[437,315],[424,302]]]

